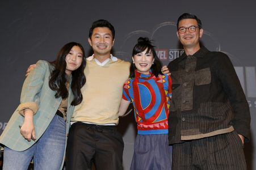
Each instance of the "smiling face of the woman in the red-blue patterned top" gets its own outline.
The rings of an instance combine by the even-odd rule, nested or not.
[[[154,57],[151,51],[147,53],[148,49],[143,52],[137,53],[132,57],[136,69],[143,74],[149,74],[149,70],[154,62]]]

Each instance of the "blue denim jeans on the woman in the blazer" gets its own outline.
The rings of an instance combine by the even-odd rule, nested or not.
[[[25,140],[25,139],[24,139]],[[5,147],[4,170],[27,170],[33,158],[34,169],[60,169],[65,151],[66,122],[55,115],[47,130],[38,141],[25,151]]]

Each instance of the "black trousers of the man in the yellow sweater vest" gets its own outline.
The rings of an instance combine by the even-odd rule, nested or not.
[[[66,169],[123,169],[124,142],[115,126],[74,123],[68,136]]]

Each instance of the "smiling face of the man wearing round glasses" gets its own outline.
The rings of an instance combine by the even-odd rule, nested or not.
[[[195,19],[182,19],[179,22],[178,28],[188,28],[192,25],[198,27],[198,22]],[[200,48],[199,39],[203,36],[203,29],[196,28],[195,32],[189,32],[186,29],[184,33],[177,31],[177,36],[184,48]]]

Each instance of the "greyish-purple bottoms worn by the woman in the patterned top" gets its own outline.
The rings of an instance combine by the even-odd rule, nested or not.
[[[138,134],[130,170],[171,170],[172,148],[168,134]]]

